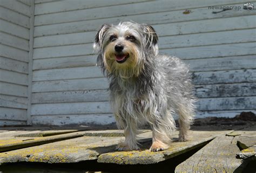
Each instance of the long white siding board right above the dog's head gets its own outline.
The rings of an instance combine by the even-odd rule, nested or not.
[[[205,8],[205,11],[211,11],[208,10],[208,8]],[[152,18],[149,16],[150,14],[146,14],[144,16],[137,15],[137,16],[122,16],[122,17],[116,17],[116,18],[109,18],[109,19],[96,19],[96,20],[85,20],[85,21],[79,21],[79,22],[70,22],[70,23],[61,23],[61,24],[51,24],[51,25],[42,25],[42,26],[35,26],[35,34],[36,36],[43,36],[43,35],[52,35],[52,34],[63,34],[63,33],[72,33],[77,30],[77,32],[84,32],[84,31],[93,31],[96,30],[100,25],[104,23],[114,23],[118,24],[120,21],[127,21],[127,20],[134,20],[138,23],[147,23],[151,25],[157,25],[162,23],[177,23],[177,22],[183,22],[185,21],[191,21],[196,19],[212,19],[212,18],[222,18],[222,17],[234,17],[239,15],[252,15],[250,11],[243,10],[240,12],[233,11],[233,10],[227,10],[227,14],[224,13],[218,13],[209,15],[208,17],[201,16],[200,13],[198,14],[197,18],[196,16],[194,19],[187,19],[188,17],[185,17],[183,15],[183,11],[180,11],[179,13],[183,15],[183,17],[175,17],[177,14],[173,14],[172,18],[164,18],[166,13],[156,16],[155,14],[151,17],[154,17],[156,20],[155,22],[152,21]],[[238,14],[239,13],[239,14]],[[254,13],[254,12],[253,12]],[[217,16],[218,17],[217,17]],[[166,21],[167,20],[167,21]],[[225,19],[224,19],[225,20]],[[39,34],[40,33],[40,34]]]

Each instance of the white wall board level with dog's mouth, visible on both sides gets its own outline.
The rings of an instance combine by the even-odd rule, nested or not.
[[[190,71],[238,70],[255,68],[256,55],[185,60]],[[35,59],[33,70],[95,66],[97,56]],[[1,61],[1,58],[0,58]]]

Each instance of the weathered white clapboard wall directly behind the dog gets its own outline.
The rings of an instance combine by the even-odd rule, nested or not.
[[[255,112],[256,10],[243,10],[244,2],[35,0],[32,123],[114,122],[107,80],[95,66],[92,41],[95,30],[103,23],[117,24],[130,19],[151,24],[159,35],[160,52],[190,64],[199,98],[198,117]],[[241,10],[218,12],[221,10],[208,9],[212,5],[241,6]],[[14,49],[15,45],[10,47]],[[20,49],[28,51],[24,50],[28,47]],[[26,59],[19,59],[19,63],[27,65]],[[24,69],[22,73],[26,74],[28,70]]]

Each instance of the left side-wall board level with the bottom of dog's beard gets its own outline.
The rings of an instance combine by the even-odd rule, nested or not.
[[[0,81],[28,86],[28,75],[0,69]]]

